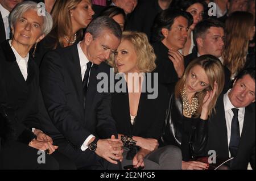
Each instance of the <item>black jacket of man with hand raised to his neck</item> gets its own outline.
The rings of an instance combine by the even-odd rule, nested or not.
[[[160,83],[176,83],[178,81],[177,73],[174,69],[174,64],[168,57],[168,48],[161,42],[152,44],[156,54],[156,69],[158,73]],[[184,59],[184,66],[188,64],[187,60]]]

